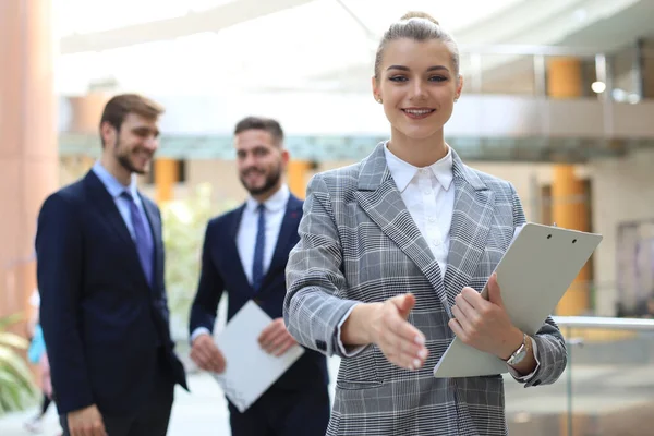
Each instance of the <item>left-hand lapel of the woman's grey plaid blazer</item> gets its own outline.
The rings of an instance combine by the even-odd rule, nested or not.
[[[432,254],[398,191],[379,144],[363,164],[354,196],[367,216],[409,256],[448,307],[438,262]],[[449,308],[448,308],[449,313]]]

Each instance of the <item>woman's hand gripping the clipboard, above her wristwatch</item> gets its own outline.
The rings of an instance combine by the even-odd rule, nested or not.
[[[504,360],[522,343],[523,335],[505,310],[495,272],[488,280],[488,301],[474,289],[463,288],[455,302],[455,317],[448,325],[463,343]]]

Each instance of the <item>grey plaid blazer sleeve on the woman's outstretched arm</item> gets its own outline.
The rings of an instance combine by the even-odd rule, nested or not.
[[[308,183],[299,233],[286,269],[287,328],[302,346],[344,358],[338,347],[338,326],[359,302],[339,296],[346,287],[342,247],[330,194],[319,174]]]

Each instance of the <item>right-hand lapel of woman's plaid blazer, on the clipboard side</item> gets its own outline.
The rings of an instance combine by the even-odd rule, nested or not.
[[[474,276],[488,239],[495,203],[493,191],[463,165],[455,150],[452,154],[456,199],[444,280],[449,306]]]

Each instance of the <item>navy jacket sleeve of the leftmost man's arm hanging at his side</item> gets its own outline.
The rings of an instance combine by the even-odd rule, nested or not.
[[[36,233],[40,324],[50,361],[59,413],[94,403],[80,331],[83,234],[74,205],[51,195],[38,216]]]

